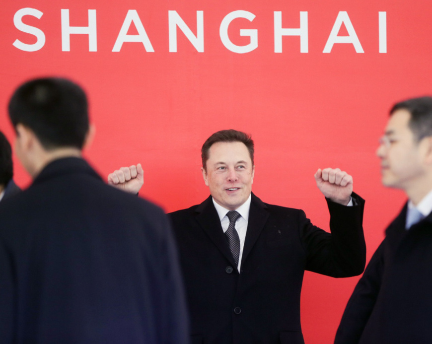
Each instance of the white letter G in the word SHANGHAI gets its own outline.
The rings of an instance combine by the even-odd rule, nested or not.
[[[245,18],[248,19],[249,21],[252,21],[255,18],[255,14],[248,11],[242,11],[242,10],[228,13],[220,23],[220,27],[219,27],[220,40],[222,41],[223,45],[233,53],[238,53],[238,54],[249,53],[258,47],[258,30],[240,29],[240,36],[249,36],[250,43],[244,46],[238,46],[233,44],[228,37],[228,26],[231,23],[231,21],[233,21],[236,18]]]

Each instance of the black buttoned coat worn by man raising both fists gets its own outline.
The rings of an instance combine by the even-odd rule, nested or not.
[[[305,270],[360,275],[365,265],[364,201],[328,202],[332,234],[304,212],[252,194],[240,274],[212,198],[170,213],[191,315],[193,344],[303,343],[300,291]]]

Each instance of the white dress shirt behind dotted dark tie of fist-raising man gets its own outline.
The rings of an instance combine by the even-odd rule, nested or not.
[[[240,239],[240,255],[238,256],[238,266],[237,266],[238,272],[240,272],[241,257],[243,256],[244,239],[246,238],[247,222],[249,219],[250,201],[251,201],[251,195],[249,195],[249,198],[246,200],[245,203],[243,203],[241,206],[235,209],[235,211],[237,211],[240,214],[240,217],[235,222],[235,230],[237,231],[238,237]],[[220,224],[222,225],[223,233],[225,233],[229,225],[229,218],[228,216],[226,216],[229,209],[226,209],[223,206],[218,205],[215,199],[213,199],[213,204],[215,205],[217,214],[219,215],[219,220],[220,220]]]

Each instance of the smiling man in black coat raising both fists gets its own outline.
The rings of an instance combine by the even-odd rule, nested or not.
[[[304,270],[346,277],[364,268],[364,202],[352,193],[352,177],[340,169],[315,174],[330,209],[330,234],[312,225],[302,210],[269,205],[251,193],[253,154],[250,136],[235,130],[213,134],[202,147],[211,196],[169,214],[193,344],[303,343]],[[121,168],[108,181],[127,190],[131,183],[129,191],[136,193],[142,185],[141,166],[138,170],[137,178],[130,178],[129,169]]]

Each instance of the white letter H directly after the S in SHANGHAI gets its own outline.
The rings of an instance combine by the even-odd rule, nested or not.
[[[88,35],[88,51],[97,51],[96,10],[88,10],[88,26],[69,26],[69,9],[62,9],[62,51],[71,51],[71,34]]]

